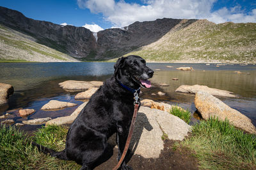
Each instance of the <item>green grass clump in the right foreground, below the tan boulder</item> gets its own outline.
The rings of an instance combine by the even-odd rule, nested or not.
[[[202,121],[177,145],[194,151],[202,169],[256,169],[256,136],[244,134],[227,120]]]

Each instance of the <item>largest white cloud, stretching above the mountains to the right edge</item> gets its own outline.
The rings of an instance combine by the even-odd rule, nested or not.
[[[79,8],[88,8],[92,13],[102,13],[104,19],[115,27],[124,27],[136,21],[157,18],[207,18],[212,22],[256,22],[256,9],[250,14],[241,11],[241,6],[221,8],[211,12],[217,0],[143,0],[145,5],[125,3],[124,0],[77,0]]]

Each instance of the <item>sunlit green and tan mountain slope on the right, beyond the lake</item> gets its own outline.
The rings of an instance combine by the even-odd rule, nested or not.
[[[180,24],[158,41],[126,55],[140,55],[152,61],[256,62],[255,23],[214,24],[197,20],[179,29]]]

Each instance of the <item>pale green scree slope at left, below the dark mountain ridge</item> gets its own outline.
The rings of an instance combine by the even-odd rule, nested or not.
[[[77,61],[35,42],[35,38],[14,31],[0,24],[0,62],[60,62]]]

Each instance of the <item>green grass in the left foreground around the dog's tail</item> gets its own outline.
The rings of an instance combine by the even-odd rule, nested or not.
[[[20,132],[15,127],[2,126],[0,128],[0,169],[79,169],[81,166],[75,162],[45,155],[31,145],[31,141],[49,142],[47,146],[51,148],[63,148],[65,132],[67,132],[65,127],[49,126],[36,132],[35,137],[28,138],[24,132]]]

